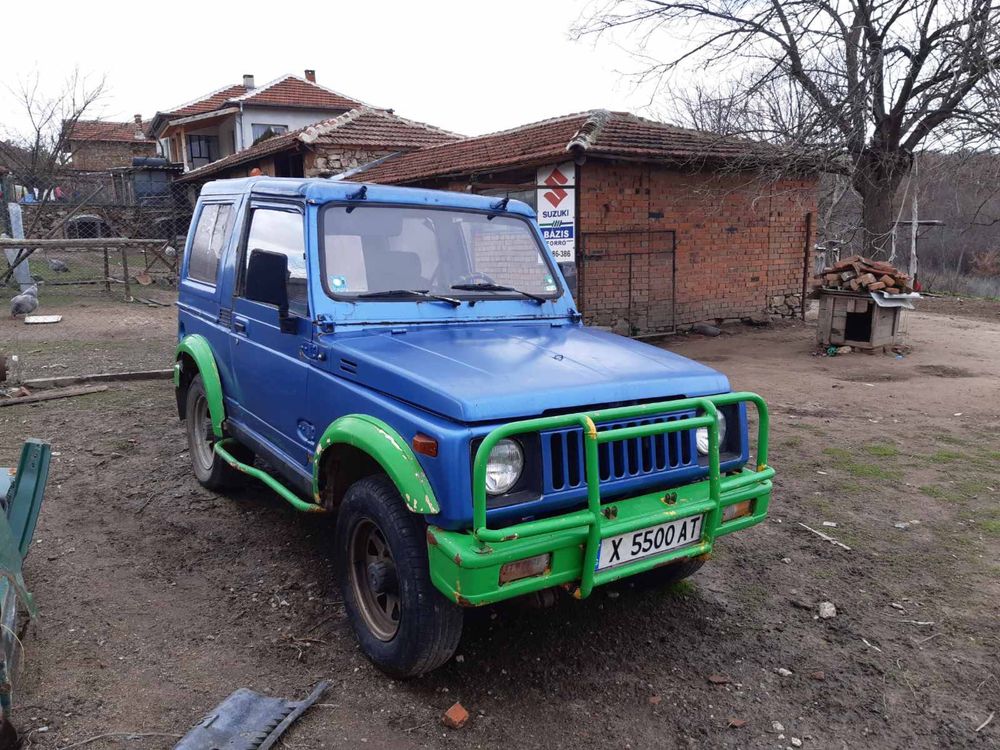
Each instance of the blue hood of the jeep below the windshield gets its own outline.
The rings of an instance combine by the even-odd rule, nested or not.
[[[337,375],[460,422],[729,390],[710,367],[571,324],[415,326],[324,343]]]

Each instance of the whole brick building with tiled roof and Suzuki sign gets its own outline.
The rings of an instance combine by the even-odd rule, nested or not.
[[[576,273],[588,322],[641,335],[799,314],[818,176],[786,161],[762,144],[594,110],[345,176],[525,200]]]

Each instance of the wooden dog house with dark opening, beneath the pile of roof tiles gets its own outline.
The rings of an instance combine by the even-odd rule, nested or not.
[[[879,349],[898,343],[901,307],[876,304],[868,292],[822,289],[816,340],[823,346]]]

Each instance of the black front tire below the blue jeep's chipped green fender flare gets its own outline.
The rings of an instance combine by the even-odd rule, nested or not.
[[[391,553],[397,589],[398,621],[394,632],[383,631],[381,637],[369,625],[371,602],[366,604],[366,593],[359,590],[366,582],[368,592],[374,590],[371,570],[355,559],[352,541],[359,534],[371,534],[373,528]],[[426,674],[451,658],[462,637],[462,609],[431,583],[427,526],[406,508],[389,477],[365,477],[348,488],[338,511],[334,551],[348,618],[361,650],[375,666],[405,679]]]

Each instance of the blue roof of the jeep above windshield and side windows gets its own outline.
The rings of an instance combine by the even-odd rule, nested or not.
[[[470,209],[488,211],[499,198],[490,195],[457,193],[449,190],[425,190],[392,185],[372,185],[345,180],[330,180],[318,177],[240,177],[230,180],[206,182],[201,189],[203,197],[212,195],[242,195],[278,198],[305,198],[310,203],[351,200],[362,186],[367,188],[364,201],[369,204],[409,204],[437,208]],[[357,198],[354,198],[357,200]],[[535,212],[527,203],[512,200],[508,203],[508,213],[534,218]]]

